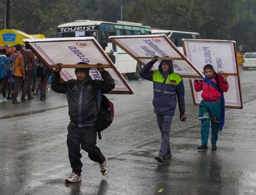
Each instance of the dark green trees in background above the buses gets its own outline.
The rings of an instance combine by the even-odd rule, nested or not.
[[[256,50],[255,0],[11,0],[10,28],[56,37],[57,26],[75,20],[141,22],[161,29],[196,31],[201,38],[236,40]],[[6,0],[0,0],[4,28]]]

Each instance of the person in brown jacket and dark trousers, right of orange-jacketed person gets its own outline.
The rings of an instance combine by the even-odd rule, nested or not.
[[[30,80],[31,80],[33,66],[37,66],[34,53],[27,48],[27,45],[25,45],[25,48],[26,50],[22,52],[24,68],[26,72],[26,76],[25,76],[25,80],[22,88],[22,96],[21,96],[22,102],[27,101],[27,99],[25,98],[26,94],[27,94],[28,100],[33,99],[33,97],[31,96]]]

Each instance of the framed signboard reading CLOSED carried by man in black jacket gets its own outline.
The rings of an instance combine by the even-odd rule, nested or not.
[[[102,80],[97,71],[97,63],[101,63],[115,80],[116,87],[110,93],[133,94],[132,88],[118,72],[108,55],[94,37],[23,39],[23,42],[49,68],[59,67],[64,81],[76,79],[75,67],[90,68],[92,79]],[[85,62],[87,64],[78,64]]]

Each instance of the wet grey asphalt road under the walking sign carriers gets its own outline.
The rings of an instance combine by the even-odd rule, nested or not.
[[[244,109],[226,109],[217,151],[197,150],[199,108],[192,103],[185,79],[187,121],[181,123],[176,110],[170,139],[173,157],[164,164],[154,159],[161,138],[153,113],[153,85],[130,81],[134,95],[108,95],[115,117],[97,142],[109,157],[108,176],[102,176],[98,164],[81,151],[82,182],[74,184],[64,182],[71,170],[65,96],[49,91],[46,102],[35,97],[16,107],[0,103],[0,194],[256,194],[255,74],[240,69]],[[30,115],[9,118],[21,113]]]

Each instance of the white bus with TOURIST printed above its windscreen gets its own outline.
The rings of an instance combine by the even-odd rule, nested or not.
[[[107,54],[111,49],[114,50],[115,66],[118,71],[126,74],[129,80],[137,80],[142,66],[124,50],[113,44],[108,37],[140,34],[151,34],[151,28],[134,22],[76,20],[59,25],[57,37],[95,37]]]

